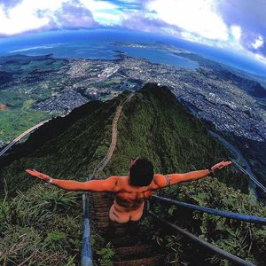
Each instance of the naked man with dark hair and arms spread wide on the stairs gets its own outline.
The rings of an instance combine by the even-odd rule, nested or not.
[[[221,161],[209,169],[163,176],[153,173],[153,164],[149,160],[132,158],[129,164],[128,176],[110,176],[105,180],[90,180],[87,182],[55,179],[35,170],[26,171],[32,176],[67,191],[115,193],[115,200],[110,208],[109,217],[111,221],[116,223],[128,223],[129,221],[138,221],[141,218],[145,199],[149,198],[158,189],[205,176],[213,176],[216,170],[230,164],[231,161]]]

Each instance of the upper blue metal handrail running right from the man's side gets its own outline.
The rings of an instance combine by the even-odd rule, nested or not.
[[[258,217],[258,216],[254,216],[254,215],[241,215],[238,213],[227,212],[227,211],[223,211],[223,210],[219,210],[219,209],[215,209],[215,208],[201,207],[201,206],[194,205],[191,203],[186,203],[186,202],[182,202],[182,201],[163,198],[163,197],[160,197],[157,195],[153,195],[152,197],[155,199],[161,200],[163,202],[166,202],[168,204],[171,204],[171,205],[188,207],[188,208],[199,210],[199,211],[202,211],[202,212],[205,212],[208,214],[219,215],[219,216],[228,217],[231,219],[236,219],[236,220],[240,220],[240,221],[244,221],[244,222],[258,223],[258,224],[266,225],[266,218],[264,218],[264,217]]]

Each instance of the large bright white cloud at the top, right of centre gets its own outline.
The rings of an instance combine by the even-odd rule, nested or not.
[[[216,13],[214,1],[152,0],[146,4],[146,9],[155,12],[158,19],[201,37],[228,39],[228,28]]]

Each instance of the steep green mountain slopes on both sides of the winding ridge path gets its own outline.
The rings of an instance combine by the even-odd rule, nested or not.
[[[106,103],[90,102],[65,118],[56,118],[35,131],[25,144],[0,160],[5,178],[12,189],[27,187],[31,180],[24,171],[35,168],[59,178],[84,180],[101,160],[111,141],[112,119],[119,98]],[[228,153],[210,137],[204,125],[166,88],[148,84],[124,106],[118,125],[117,149],[106,175],[127,174],[132,156],[153,160],[156,172],[184,172],[207,168]],[[7,166],[8,167],[5,167]],[[223,177],[222,177],[223,176]],[[221,180],[246,191],[246,184],[234,182],[235,174],[225,170]]]

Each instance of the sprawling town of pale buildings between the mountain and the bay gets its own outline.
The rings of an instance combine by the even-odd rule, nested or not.
[[[115,60],[65,60],[59,69],[27,74],[2,85],[0,90],[23,92],[35,99],[32,109],[54,116],[65,115],[93,99],[113,98],[122,90],[137,91],[146,82],[167,86],[192,113],[219,131],[259,142],[266,140],[262,106],[206,66],[185,69],[119,53]]]

